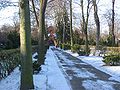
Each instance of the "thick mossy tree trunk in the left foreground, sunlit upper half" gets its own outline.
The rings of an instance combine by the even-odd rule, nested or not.
[[[29,0],[20,0],[20,90],[33,89],[32,49]]]

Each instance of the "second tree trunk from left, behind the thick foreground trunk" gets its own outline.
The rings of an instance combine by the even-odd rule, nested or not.
[[[45,56],[45,10],[46,10],[47,0],[40,0],[40,19],[39,19],[39,29],[38,29],[38,64],[44,64]]]

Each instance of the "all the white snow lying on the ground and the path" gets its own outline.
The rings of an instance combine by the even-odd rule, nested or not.
[[[103,58],[99,56],[79,56],[77,53],[70,52],[70,50],[65,52],[81,59],[85,63],[91,64],[98,70],[110,74],[112,77],[110,77],[109,80],[120,82],[120,66],[105,66],[105,63],[102,61]],[[37,60],[34,58],[36,55],[37,53],[33,54],[33,61]],[[59,54],[59,56],[65,59],[67,64],[74,65],[73,62],[66,59],[62,54]],[[41,66],[42,70],[38,74],[33,75],[34,90],[71,90],[71,86],[58,63],[59,60],[50,47],[46,54],[45,65]],[[78,68],[71,68],[71,70],[72,69],[75,71],[77,77],[95,78],[95,80],[85,79],[82,81],[82,86],[84,86],[86,90],[114,90],[112,87],[114,82],[99,80],[93,73],[86,71],[85,68],[82,68],[82,70]],[[19,87],[20,71],[17,67],[8,77],[0,81],[0,90],[19,90]]]

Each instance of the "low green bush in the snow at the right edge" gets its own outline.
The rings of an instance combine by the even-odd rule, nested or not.
[[[110,66],[120,65],[120,54],[109,54],[104,56],[103,62]]]

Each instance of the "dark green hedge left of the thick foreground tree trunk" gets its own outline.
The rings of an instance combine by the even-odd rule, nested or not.
[[[19,49],[0,52],[0,79],[9,75],[20,64]]]

